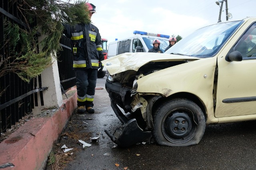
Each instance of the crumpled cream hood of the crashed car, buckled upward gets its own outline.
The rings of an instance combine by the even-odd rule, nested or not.
[[[187,59],[194,61],[200,58],[161,53],[123,53],[101,62],[108,72],[114,75],[126,70],[138,71],[141,66],[149,62],[183,61]]]

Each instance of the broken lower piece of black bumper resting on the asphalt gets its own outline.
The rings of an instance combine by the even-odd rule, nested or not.
[[[152,137],[150,131],[144,132],[138,126],[136,119],[128,120],[113,100],[111,100],[111,107],[116,113],[118,119],[123,123],[122,127],[117,128],[113,135],[105,130],[105,133],[114,143],[120,147],[129,147],[136,143],[150,141],[150,138]]]

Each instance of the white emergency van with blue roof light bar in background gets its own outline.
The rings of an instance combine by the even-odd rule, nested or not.
[[[169,35],[147,33],[144,31],[133,31],[133,33],[132,37],[109,43],[108,58],[122,53],[148,52],[149,49],[153,48],[152,43],[155,39],[160,41],[160,49],[163,52],[169,45]]]

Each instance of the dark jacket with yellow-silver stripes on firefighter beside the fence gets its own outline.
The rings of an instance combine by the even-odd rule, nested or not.
[[[63,33],[71,39],[71,51],[74,69],[99,67],[104,60],[101,37],[98,28],[92,23],[64,26]]]

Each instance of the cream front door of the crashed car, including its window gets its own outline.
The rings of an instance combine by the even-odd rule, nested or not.
[[[248,37],[256,43],[256,24],[233,47],[242,61],[228,62],[225,54],[218,58],[215,117],[256,114],[256,45],[249,47]]]

